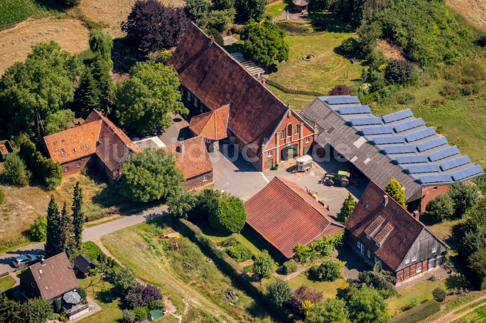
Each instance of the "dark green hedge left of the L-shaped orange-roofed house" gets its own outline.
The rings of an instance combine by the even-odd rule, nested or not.
[[[63,172],[59,162],[42,156],[35,144],[25,136],[19,138],[19,146],[20,158],[48,190],[53,190],[61,184]]]

